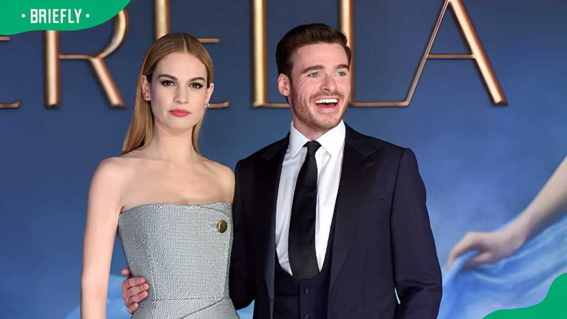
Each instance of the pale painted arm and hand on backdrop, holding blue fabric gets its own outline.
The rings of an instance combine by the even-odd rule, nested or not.
[[[469,250],[479,251],[468,267],[499,261],[514,254],[532,236],[559,219],[567,209],[567,158],[551,175],[539,194],[505,229],[498,232],[467,233],[453,247],[447,268]]]

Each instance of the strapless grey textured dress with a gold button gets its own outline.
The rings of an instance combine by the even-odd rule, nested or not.
[[[149,296],[133,319],[238,318],[229,297],[229,203],[145,204],[120,214],[118,233]]]

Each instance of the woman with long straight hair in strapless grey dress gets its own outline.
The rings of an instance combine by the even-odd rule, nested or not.
[[[163,36],[146,53],[122,156],[104,159],[91,182],[83,319],[105,318],[117,229],[149,285],[134,318],[238,318],[227,278],[234,174],[197,144],[213,89],[211,58],[193,36]]]

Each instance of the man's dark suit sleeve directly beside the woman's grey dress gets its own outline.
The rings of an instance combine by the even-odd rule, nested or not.
[[[244,205],[242,203],[243,181],[247,180],[242,169],[243,163],[236,163],[235,190],[232,201],[232,253],[230,257],[229,287],[230,299],[236,309],[247,307],[256,295],[253,267],[255,263],[249,261],[247,252],[246,224],[244,221]]]

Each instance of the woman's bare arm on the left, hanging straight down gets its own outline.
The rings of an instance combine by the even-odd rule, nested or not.
[[[106,318],[108,276],[120,213],[120,166],[105,159],[88,193],[81,272],[81,318]]]

